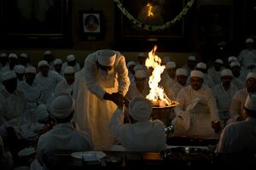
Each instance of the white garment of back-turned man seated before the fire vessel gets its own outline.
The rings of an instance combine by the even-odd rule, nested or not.
[[[128,151],[160,151],[166,148],[166,131],[159,120],[123,123],[124,114],[117,109],[109,122],[113,135]]]

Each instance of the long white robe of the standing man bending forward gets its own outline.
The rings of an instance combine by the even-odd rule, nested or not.
[[[89,54],[84,61],[84,82],[77,98],[77,113],[73,120],[81,130],[89,132],[96,150],[110,150],[113,135],[108,123],[117,106],[103,95],[128,91],[130,81],[125,65],[125,57],[119,52],[113,64],[113,74],[102,76],[96,66],[97,55],[101,51]]]

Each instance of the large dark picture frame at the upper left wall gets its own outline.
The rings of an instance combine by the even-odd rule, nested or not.
[[[32,1],[32,3],[26,5],[22,0],[0,2],[2,47],[72,46],[71,1]]]

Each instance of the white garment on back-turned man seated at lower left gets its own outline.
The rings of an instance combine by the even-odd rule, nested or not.
[[[61,123],[53,127],[38,139],[37,157],[41,165],[45,158],[53,156],[54,150],[92,150],[91,139],[88,133],[80,132],[73,128],[71,123]]]

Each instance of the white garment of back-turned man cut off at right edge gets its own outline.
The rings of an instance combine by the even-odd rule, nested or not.
[[[244,122],[227,125],[221,133],[218,153],[253,153],[256,152],[256,119],[247,117]]]

